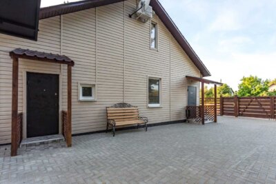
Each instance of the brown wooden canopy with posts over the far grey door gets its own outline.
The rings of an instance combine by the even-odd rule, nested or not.
[[[191,81],[198,81],[201,82],[201,123],[202,125],[205,124],[205,116],[204,116],[204,112],[205,112],[205,106],[204,106],[204,83],[207,84],[214,84],[215,85],[215,120],[214,122],[217,122],[217,85],[223,85],[223,83],[219,83],[216,81],[211,81],[208,79],[203,79],[200,77],[196,77],[196,76],[186,76],[186,79],[191,80]]]

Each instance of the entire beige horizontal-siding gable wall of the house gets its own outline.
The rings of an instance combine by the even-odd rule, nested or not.
[[[141,23],[128,14],[136,1],[124,1],[39,21],[38,41],[0,34],[0,144],[10,143],[12,60],[14,48],[65,54],[72,68],[72,134],[106,128],[106,107],[137,105],[149,123],[185,119],[187,86],[200,76],[187,54],[157,15],[158,50],[150,50],[150,21]],[[67,67],[19,59],[19,112],[26,130],[26,72],[59,74],[60,111],[67,109]],[[148,108],[148,77],[161,78],[161,108]],[[78,83],[96,84],[97,101],[78,101]]]

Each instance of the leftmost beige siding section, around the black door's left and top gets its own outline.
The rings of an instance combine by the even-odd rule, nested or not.
[[[0,34],[0,144],[10,143],[11,139],[12,59],[10,59],[9,52],[15,48],[59,53],[59,17],[39,22],[38,41]],[[23,71],[26,70],[32,72],[60,72],[60,65],[26,60],[19,61],[19,112],[23,111]]]

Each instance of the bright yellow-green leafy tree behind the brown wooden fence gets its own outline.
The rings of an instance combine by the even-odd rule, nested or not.
[[[242,78],[239,84],[238,96],[267,96],[269,81],[263,81],[257,76],[248,76]]]

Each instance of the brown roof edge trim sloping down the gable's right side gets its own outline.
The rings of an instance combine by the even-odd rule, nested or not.
[[[179,31],[175,23],[170,19],[170,16],[166,12],[166,10],[161,6],[161,3],[159,3],[158,0],[151,0],[150,6],[152,6],[153,10],[157,13],[158,17],[161,19],[161,21],[166,25],[166,28],[171,32],[172,36],[175,37],[179,45],[181,45],[181,48],[186,52],[188,57],[195,63],[197,68],[200,70],[201,74],[203,76],[210,76],[210,72],[204,65],[204,63],[199,59],[193,48],[190,46],[188,41],[185,39],[183,34]]]

